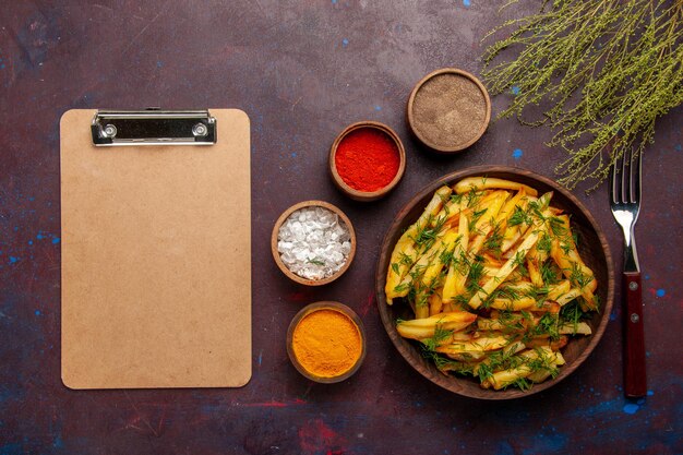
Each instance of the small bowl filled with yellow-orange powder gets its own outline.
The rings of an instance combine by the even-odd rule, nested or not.
[[[324,384],[345,381],[366,358],[363,324],[343,303],[311,303],[289,324],[287,354],[295,368],[311,381]]]

